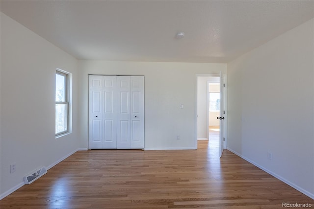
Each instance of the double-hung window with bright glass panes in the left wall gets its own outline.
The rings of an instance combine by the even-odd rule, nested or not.
[[[69,132],[69,75],[55,74],[55,135]]]

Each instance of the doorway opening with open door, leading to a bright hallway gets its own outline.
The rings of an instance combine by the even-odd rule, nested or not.
[[[196,79],[196,144],[210,149],[212,157],[221,157],[227,148],[227,76],[220,72]]]

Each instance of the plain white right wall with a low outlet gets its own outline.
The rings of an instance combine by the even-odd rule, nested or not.
[[[228,149],[312,198],[313,92],[313,19],[228,63]]]

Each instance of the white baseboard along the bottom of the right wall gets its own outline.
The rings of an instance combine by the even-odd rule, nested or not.
[[[258,163],[248,159],[247,157],[244,157],[242,155],[240,155],[239,153],[235,152],[234,150],[230,149],[229,147],[227,148],[227,150],[229,150],[230,152],[234,153],[235,155],[237,155],[238,157],[241,157],[242,159],[245,159],[246,161],[248,161],[249,163],[252,163],[253,165],[255,165],[256,167],[262,169],[263,171],[265,171],[266,173],[272,175],[273,177],[275,177],[276,179],[279,179],[280,181],[284,182],[284,183],[287,183],[289,186],[295,188],[296,190],[298,190],[299,192],[305,194],[306,196],[314,199],[314,194],[301,188],[300,186],[298,185],[295,185],[294,183],[291,183],[290,181],[288,181],[287,179],[279,176],[278,174],[275,174],[274,172],[264,168],[263,166],[259,165]]]

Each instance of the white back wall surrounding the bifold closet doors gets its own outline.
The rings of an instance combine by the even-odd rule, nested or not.
[[[146,150],[195,149],[196,75],[227,70],[226,64],[170,62],[79,61],[79,67],[80,146],[88,144],[88,74],[144,75]]]

